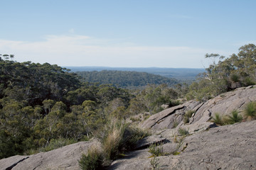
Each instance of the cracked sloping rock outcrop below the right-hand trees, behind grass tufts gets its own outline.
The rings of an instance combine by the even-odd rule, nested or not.
[[[188,101],[182,105],[167,108],[160,113],[151,115],[151,117],[141,124],[141,127],[153,130],[164,130],[175,128],[174,124],[176,123],[178,128],[182,126],[183,128],[190,129],[191,132],[206,130],[214,126],[209,123],[209,120],[215,113],[228,115],[233,110],[242,111],[244,106],[250,101],[256,101],[256,86],[235,89],[235,91],[221,94],[205,103]],[[185,115],[186,111],[191,110],[195,111],[195,113],[193,113],[192,117],[189,119],[189,123],[184,125],[183,115]]]

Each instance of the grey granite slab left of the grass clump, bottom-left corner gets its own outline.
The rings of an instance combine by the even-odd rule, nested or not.
[[[80,169],[78,160],[91,145],[92,142],[78,142],[49,152],[1,159],[0,169],[8,169],[11,166],[11,170]]]

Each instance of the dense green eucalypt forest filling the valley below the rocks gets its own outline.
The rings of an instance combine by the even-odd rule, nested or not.
[[[0,58],[0,159],[88,140],[102,134],[111,118],[151,115],[161,111],[162,104],[174,106],[182,100],[206,101],[256,81],[253,44],[227,58],[207,54],[212,64],[190,86],[149,84],[141,90],[81,82],[77,74],[58,65],[13,58]]]

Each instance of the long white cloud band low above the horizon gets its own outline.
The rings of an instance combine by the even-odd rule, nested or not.
[[[117,45],[114,40],[85,35],[48,35],[38,42],[0,40],[0,49],[2,53],[14,54],[18,62],[108,67],[198,68],[203,67],[203,56],[209,52],[193,47],[135,46],[129,42]]]

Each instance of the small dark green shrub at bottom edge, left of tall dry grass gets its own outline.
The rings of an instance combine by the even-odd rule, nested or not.
[[[82,170],[95,170],[95,169],[104,169],[102,151],[100,150],[100,146],[92,145],[92,147],[88,150],[87,155],[82,154],[80,158],[79,166]]]

